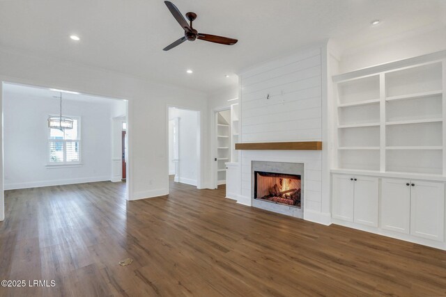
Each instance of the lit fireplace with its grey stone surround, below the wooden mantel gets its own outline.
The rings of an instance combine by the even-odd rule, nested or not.
[[[303,163],[252,161],[252,205],[303,218]]]

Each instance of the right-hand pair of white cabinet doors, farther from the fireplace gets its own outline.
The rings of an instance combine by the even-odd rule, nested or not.
[[[383,229],[443,241],[445,184],[403,179],[382,182]]]

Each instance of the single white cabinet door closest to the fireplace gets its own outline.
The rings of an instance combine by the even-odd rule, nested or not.
[[[332,216],[353,222],[353,177],[332,175]]]

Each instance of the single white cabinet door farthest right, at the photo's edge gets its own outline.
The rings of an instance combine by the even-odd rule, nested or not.
[[[445,184],[412,182],[410,234],[443,241],[445,227]]]

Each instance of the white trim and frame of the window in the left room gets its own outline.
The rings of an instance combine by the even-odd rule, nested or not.
[[[48,117],[53,117],[53,116],[58,116],[58,115],[48,115]],[[82,120],[80,116],[76,116],[76,115],[64,115],[67,116],[68,118],[72,118],[73,120],[77,120],[77,136],[78,138],[75,140],[65,140],[65,139],[49,139],[49,127],[48,124],[46,123],[46,129],[47,129],[47,147],[46,147],[46,152],[47,152],[47,159],[45,162],[45,167],[47,169],[54,169],[54,168],[72,168],[72,167],[82,167],[84,164],[82,163]],[[80,137],[79,137],[80,136]],[[49,143],[54,143],[54,142],[60,142],[60,143],[64,143],[63,144],[63,156],[66,156],[66,144],[68,142],[77,142],[79,143],[79,161],[71,161],[71,162],[67,162],[67,161],[63,161],[63,162],[56,162],[56,163],[52,163],[49,161],[49,156],[51,154],[51,152],[49,152]]]

